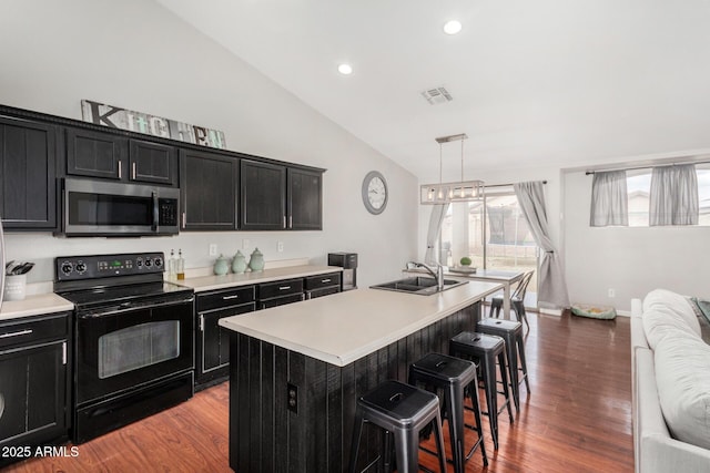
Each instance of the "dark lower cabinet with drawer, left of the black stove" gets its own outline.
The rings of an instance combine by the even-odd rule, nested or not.
[[[69,320],[57,313],[0,323],[0,466],[69,439]]]

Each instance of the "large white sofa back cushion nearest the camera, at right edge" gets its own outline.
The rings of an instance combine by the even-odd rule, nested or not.
[[[710,449],[710,346],[677,331],[653,349],[658,397],[672,435]]]

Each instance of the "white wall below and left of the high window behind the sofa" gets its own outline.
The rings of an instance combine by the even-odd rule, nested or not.
[[[710,227],[589,226],[591,176],[565,181],[565,251],[574,302],[630,310],[631,298],[656,288],[710,297]],[[616,296],[608,297],[608,289]]]

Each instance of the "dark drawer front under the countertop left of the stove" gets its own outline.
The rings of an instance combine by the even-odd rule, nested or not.
[[[0,326],[0,349],[41,340],[64,339],[67,338],[68,317],[68,313],[62,313],[2,322]]]

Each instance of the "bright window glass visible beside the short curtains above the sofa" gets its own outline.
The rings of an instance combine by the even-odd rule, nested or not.
[[[710,226],[710,163],[697,164],[696,171],[700,199],[698,226]],[[627,171],[626,183],[629,198],[629,226],[648,227],[651,168]]]

